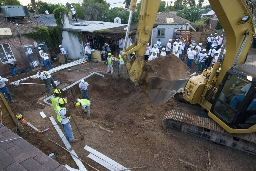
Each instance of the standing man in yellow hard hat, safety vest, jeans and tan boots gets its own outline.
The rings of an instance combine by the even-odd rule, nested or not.
[[[65,108],[67,104],[67,100],[63,98],[58,99],[58,106],[57,106],[57,120],[60,122],[63,130],[64,135],[66,139],[69,140],[69,142],[77,142],[78,139],[74,138],[73,131],[70,125],[70,114],[67,113],[67,109]]]

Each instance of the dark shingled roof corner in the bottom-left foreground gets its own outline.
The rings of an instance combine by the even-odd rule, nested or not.
[[[5,126],[0,127],[0,141],[19,137]],[[0,143],[0,170],[68,171],[22,138]]]

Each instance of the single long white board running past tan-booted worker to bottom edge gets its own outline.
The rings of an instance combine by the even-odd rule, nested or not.
[[[66,148],[73,154],[75,154],[76,156],[74,156],[73,154],[70,153],[70,155],[72,156],[73,160],[76,162],[79,170],[81,171],[87,171],[87,169],[84,167],[83,163],[81,162],[80,159],[78,159],[78,156],[76,154],[76,152],[71,149],[71,145],[69,144],[68,140],[66,139],[65,135],[63,134],[63,132],[61,131],[59,125],[57,124],[57,122],[55,121],[55,119],[51,116],[50,117],[51,123],[54,125],[54,128],[56,129],[56,131],[58,132],[62,142],[65,144]]]

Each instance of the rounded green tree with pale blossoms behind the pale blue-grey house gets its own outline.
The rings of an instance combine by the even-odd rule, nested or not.
[[[198,6],[188,6],[177,13],[177,16],[195,22],[201,18],[202,10]]]

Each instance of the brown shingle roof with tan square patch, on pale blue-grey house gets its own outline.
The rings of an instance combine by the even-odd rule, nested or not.
[[[167,23],[166,18],[173,18],[174,22]],[[186,20],[185,18],[179,17],[172,12],[162,12],[156,15],[154,24],[186,24],[187,22],[190,23],[190,21]]]

